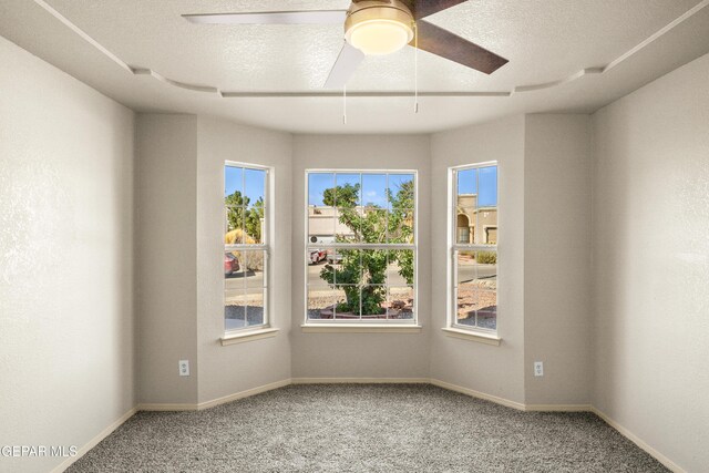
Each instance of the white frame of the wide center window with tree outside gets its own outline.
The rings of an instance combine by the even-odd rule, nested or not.
[[[389,188],[389,175],[390,174],[411,174],[413,175],[413,244],[388,244],[388,243],[311,243],[309,239],[309,175],[310,174],[386,174],[387,175],[387,188]],[[304,243],[305,245],[300,249],[302,255],[301,261],[304,265],[304,322],[302,327],[342,327],[342,328],[366,328],[380,327],[380,328],[397,328],[397,327],[419,327],[419,172],[418,169],[373,169],[373,168],[306,168],[304,173],[305,177],[305,196],[304,196]],[[361,183],[361,177],[360,177]],[[308,268],[305,256],[310,249],[331,248],[337,251],[339,248],[349,249],[407,249],[413,251],[413,317],[411,319],[310,319],[308,318]],[[387,288],[389,286],[386,286]],[[361,306],[361,302],[360,302]],[[360,308],[361,310],[361,308]],[[361,313],[360,313],[361,317]],[[366,330],[367,331],[367,330]]]

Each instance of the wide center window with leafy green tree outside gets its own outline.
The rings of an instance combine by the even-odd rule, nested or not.
[[[415,322],[415,172],[306,181],[306,321]]]

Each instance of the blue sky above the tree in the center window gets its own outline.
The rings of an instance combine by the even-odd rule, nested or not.
[[[360,182],[361,178],[361,182]],[[395,194],[402,183],[413,181],[413,174],[389,174],[389,188]],[[361,184],[360,204],[387,207],[387,174],[310,173],[308,175],[308,204],[325,205],[325,189],[346,184]]]

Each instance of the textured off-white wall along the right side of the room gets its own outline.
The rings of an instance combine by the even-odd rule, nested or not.
[[[594,404],[709,465],[709,55],[595,113]]]

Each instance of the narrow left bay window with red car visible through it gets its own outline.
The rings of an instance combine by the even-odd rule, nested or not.
[[[224,167],[224,328],[268,323],[268,169]]]

